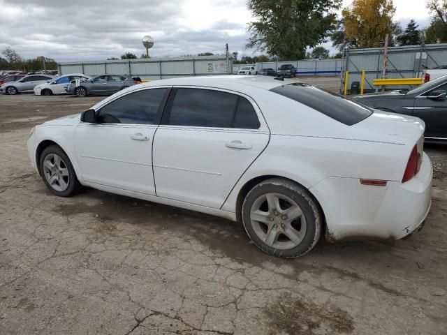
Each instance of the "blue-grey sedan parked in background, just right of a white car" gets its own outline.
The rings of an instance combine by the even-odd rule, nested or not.
[[[130,77],[122,75],[97,75],[89,80],[70,82],[66,87],[67,94],[80,97],[89,95],[108,95],[137,84]]]

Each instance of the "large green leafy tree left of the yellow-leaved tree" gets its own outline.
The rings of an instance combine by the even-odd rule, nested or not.
[[[335,24],[341,0],[249,0],[247,47],[279,59],[303,59],[307,47],[323,42]]]

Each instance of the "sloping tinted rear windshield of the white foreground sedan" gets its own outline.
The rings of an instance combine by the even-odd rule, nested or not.
[[[348,126],[357,124],[372,114],[372,110],[369,107],[359,105],[343,96],[307,84],[297,82],[275,87],[270,91],[307,105]]]

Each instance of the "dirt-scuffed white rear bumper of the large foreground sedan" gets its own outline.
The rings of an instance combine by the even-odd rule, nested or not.
[[[432,163],[424,153],[420,171],[405,183],[365,186],[356,178],[327,178],[310,191],[325,213],[329,239],[402,239],[430,211],[432,178]]]

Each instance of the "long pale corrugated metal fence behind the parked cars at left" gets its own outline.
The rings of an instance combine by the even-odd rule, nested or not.
[[[120,59],[109,61],[77,61],[59,63],[59,74],[129,75],[145,80],[193,75],[224,75],[231,73],[232,59],[225,56],[178,57],[165,59]],[[228,69],[228,70],[227,70]]]

